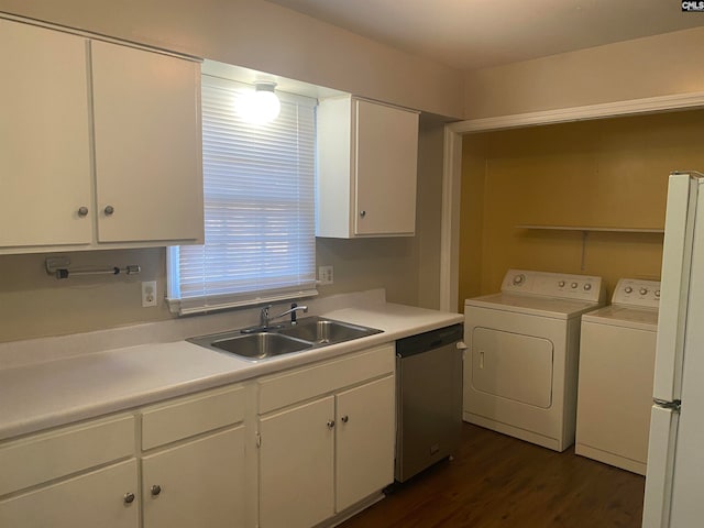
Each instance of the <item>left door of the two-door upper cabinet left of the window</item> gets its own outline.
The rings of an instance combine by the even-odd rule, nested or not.
[[[0,20],[0,248],[91,240],[86,46]]]

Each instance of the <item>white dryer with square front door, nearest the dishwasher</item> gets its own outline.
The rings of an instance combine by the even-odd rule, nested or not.
[[[464,421],[563,451],[574,443],[580,317],[601,277],[509,270],[464,302]]]

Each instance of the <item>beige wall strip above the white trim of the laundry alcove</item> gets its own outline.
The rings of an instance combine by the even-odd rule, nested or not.
[[[466,74],[465,119],[704,91],[704,28]]]

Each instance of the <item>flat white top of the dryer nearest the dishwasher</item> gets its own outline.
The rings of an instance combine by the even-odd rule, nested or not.
[[[466,299],[464,306],[551,317],[553,319],[570,319],[602,305],[535,295],[492,294]]]

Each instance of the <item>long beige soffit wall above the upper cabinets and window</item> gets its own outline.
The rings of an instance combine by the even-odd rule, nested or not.
[[[463,116],[463,75],[263,0],[0,0],[0,11]]]

